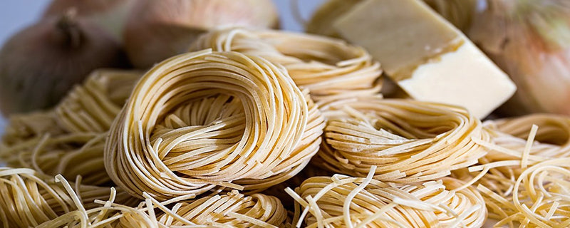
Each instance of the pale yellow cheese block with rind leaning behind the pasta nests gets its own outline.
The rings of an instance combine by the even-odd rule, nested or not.
[[[333,26],[366,48],[416,100],[460,105],[484,118],[516,90],[472,41],[423,1],[362,1]]]

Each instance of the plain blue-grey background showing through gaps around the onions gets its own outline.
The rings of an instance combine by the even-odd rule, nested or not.
[[[83,0],[89,1],[89,0]],[[291,1],[299,3],[301,16],[308,19],[311,12],[324,0],[274,0],[281,16],[281,28],[291,31],[302,31],[291,9]],[[0,43],[4,42],[22,28],[33,24],[43,13],[43,9],[50,1],[48,0],[0,0]],[[0,134],[4,133],[6,121],[0,114]]]

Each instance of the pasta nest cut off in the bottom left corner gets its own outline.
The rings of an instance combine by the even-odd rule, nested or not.
[[[76,209],[98,207],[95,199],[109,198],[108,187],[70,184],[61,176],[47,179],[30,169],[0,167],[0,221],[4,227],[36,227]],[[125,192],[117,195],[121,203],[133,204],[133,199]]]

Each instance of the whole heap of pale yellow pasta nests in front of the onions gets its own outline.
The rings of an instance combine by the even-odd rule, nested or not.
[[[2,225],[570,226],[569,117],[383,98],[380,63],[335,38],[224,28],[190,47],[11,116]]]

